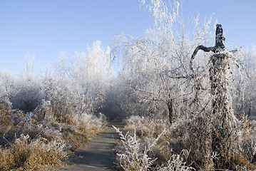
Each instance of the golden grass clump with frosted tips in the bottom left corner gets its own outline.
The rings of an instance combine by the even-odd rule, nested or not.
[[[66,144],[44,138],[30,140],[21,135],[9,147],[0,150],[0,170],[29,169],[43,165],[61,165],[68,151]]]

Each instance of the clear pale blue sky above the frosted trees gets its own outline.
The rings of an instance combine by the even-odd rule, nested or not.
[[[233,46],[256,43],[255,0],[183,0],[185,18],[198,13],[201,23],[215,13]],[[140,37],[152,24],[138,0],[0,0],[0,69],[19,73],[28,53],[36,67],[51,66],[59,51],[86,51],[97,40],[106,48],[113,35]]]

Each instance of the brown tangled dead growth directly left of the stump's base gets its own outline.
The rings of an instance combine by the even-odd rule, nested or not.
[[[213,160],[217,154],[212,150],[212,121],[204,115],[195,115],[192,119],[179,119],[171,126],[171,137],[175,142],[173,150],[180,153],[190,151],[186,162],[198,170],[214,168]]]

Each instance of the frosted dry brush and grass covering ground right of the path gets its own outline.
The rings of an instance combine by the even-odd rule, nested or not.
[[[219,169],[256,170],[255,122],[245,117],[237,121],[235,134],[222,142],[225,143],[222,147],[228,147],[222,154],[213,151],[213,119],[207,115],[180,118],[171,126],[161,122],[139,116],[127,120],[123,131],[126,134],[121,135],[122,142],[116,147],[119,167],[132,170],[129,165],[152,161],[147,170],[215,170],[222,163],[225,165]],[[161,135],[163,130],[165,133]],[[155,144],[146,151],[152,142]]]

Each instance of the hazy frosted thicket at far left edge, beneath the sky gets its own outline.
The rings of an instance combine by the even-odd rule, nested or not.
[[[44,98],[41,76],[14,77],[0,71],[0,103],[12,109],[33,111]]]

